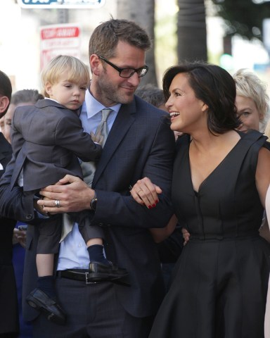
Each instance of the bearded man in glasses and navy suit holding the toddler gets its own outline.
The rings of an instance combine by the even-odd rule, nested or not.
[[[174,134],[163,111],[134,92],[146,75],[145,30],[128,20],[111,19],[98,25],[89,40],[91,84],[80,119],[94,131],[102,112],[110,108],[108,138],[96,165],[94,180],[66,175],[59,184],[41,190],[35,208],[41,213],[86,212],[91,225],[103,227],[106,257],[129,273],[129,286],[103,280],[88,281],[89,254],[78,225],[60,244],[56,262],[56,292],[67,320],[60,326],[25,306],[37,338],[147,338],[165,294],[158,250],[149,228],[164,227],[172,217],[170,199]],[[23,189],[10,191],[14,160],[0,182],[0,211],[20,220],[39,223],[34,203]],[[148,176],[162,189],[151,207],[130,196],[129,187]],[[60,185],[61,184],[61,185]],[[56,201],[58,206],[56,206]],[[37,253],[37,230],[27,230],[24,294],[37,281],[32,266]],[[31,267],[31,268],[30,268]]]

